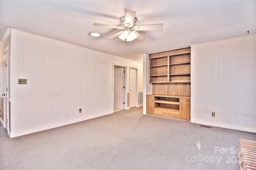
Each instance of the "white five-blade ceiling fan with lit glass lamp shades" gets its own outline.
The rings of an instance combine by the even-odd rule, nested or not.
[[[93,23],[93,25],[102,26],[102,27],[110,27],[110,28],[116,28],[116,29],[123,29],[123,31],[120,31],[111,37],[108,37],[108,39],[114,39],[116,37],[119,37],[120,39],[124,41],[132,41],[134,39],[143,40],[145,39],[144,36],[142,36],[137,31],[146,31],[146,30],[158,30],[163,29],[163,24],[150,24],[150,25],[135,25],[137,19],[135,18],[136,11],[125,9],[125,16],[120,18],[121,26],[114,26],[114,25],[107,25],[107,24],[101,24],[101,23]]]

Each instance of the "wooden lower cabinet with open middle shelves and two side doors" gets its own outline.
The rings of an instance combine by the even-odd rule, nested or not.
[[[147,114],[190,121],[189,97],[170,95],[147,95],[146,100]]]

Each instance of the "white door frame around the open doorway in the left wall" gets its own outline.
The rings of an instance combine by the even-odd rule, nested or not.
[[[113,63],[113,69],[112,69],[112,81],[113,81],[113,88],[112,88],[112,113],[114,113],[114,66],[120,66],[124,67],[124,110],[127,109],[127,92],[126,92],[126,86],[127,86],[127,66],[122,64],[115,64]]]

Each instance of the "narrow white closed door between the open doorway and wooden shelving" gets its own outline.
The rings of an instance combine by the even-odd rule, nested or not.
[[[130,108],[136,107],[136,69],[130,68]]]

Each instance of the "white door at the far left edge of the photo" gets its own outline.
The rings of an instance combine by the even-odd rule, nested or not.
[[[4,93],[2,96],[4,96],[4,128],[9,132],[9,102],[8,100],[8,55],[9,53],[9,48],[7,47],[6,50],[4,51]]]

